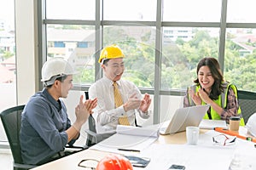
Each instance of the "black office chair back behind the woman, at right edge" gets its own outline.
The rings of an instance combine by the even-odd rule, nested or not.
[[[241,116],[247,123],[248,118],[256,112],[256,93],[238,90],[238,103],[241,107]]]

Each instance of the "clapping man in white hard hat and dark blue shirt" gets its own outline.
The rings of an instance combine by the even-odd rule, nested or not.
[[[83,95],[80,96],[72,125],[60,98],[67,98],[73,88],[73,74],[72,65],[64,59],[54,58],[44,63],[44,89],[29,99],[21,116],[20,147],[24,163],[41,165],[65,156],[65,146],[79,138],[80,129],[96,107],[97,99],[84,102]]]

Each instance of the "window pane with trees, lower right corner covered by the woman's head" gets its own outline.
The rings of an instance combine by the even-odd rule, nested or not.
[[[196,66],[201,58],[218,59],[218,35],[218,28],[164,27],[161,89],[189,87],[196,78]]]

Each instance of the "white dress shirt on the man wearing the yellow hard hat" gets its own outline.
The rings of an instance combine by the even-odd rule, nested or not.
[[[128,101],[130,97],[129,95],[135,91],[137,92],[137,97],[139,99],[143,99],[142,94],[134,83],[126,80],[119,80],[117,81],[117,84],[124,104]],[[144,119],[148,119],[149,117],[148,113],[144,113],[139,109],[125,112],[123,105],[115,108],[113,99],[113,81],[109,80],[107,77],[102,77],[102,79],[94,82],[90,86],[89,97],[90,99],[98,99],[93,115],[97,115],[97,123],[102,127],[106,127],[108,129],[116,128],[119,124],[118,118],[120,116],[128,116],[131,126],[135,126],[136,111],[138,111],[139,115]]]

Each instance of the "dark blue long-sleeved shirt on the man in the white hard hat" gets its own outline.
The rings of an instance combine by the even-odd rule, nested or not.
[[[21,116],[20,147],[26,164],[37,164],[67,144],[67,128],[71,122],[63,101],[56,101],[47,89],[34,94]],[[71,141],[74,143],[74,141]]]

